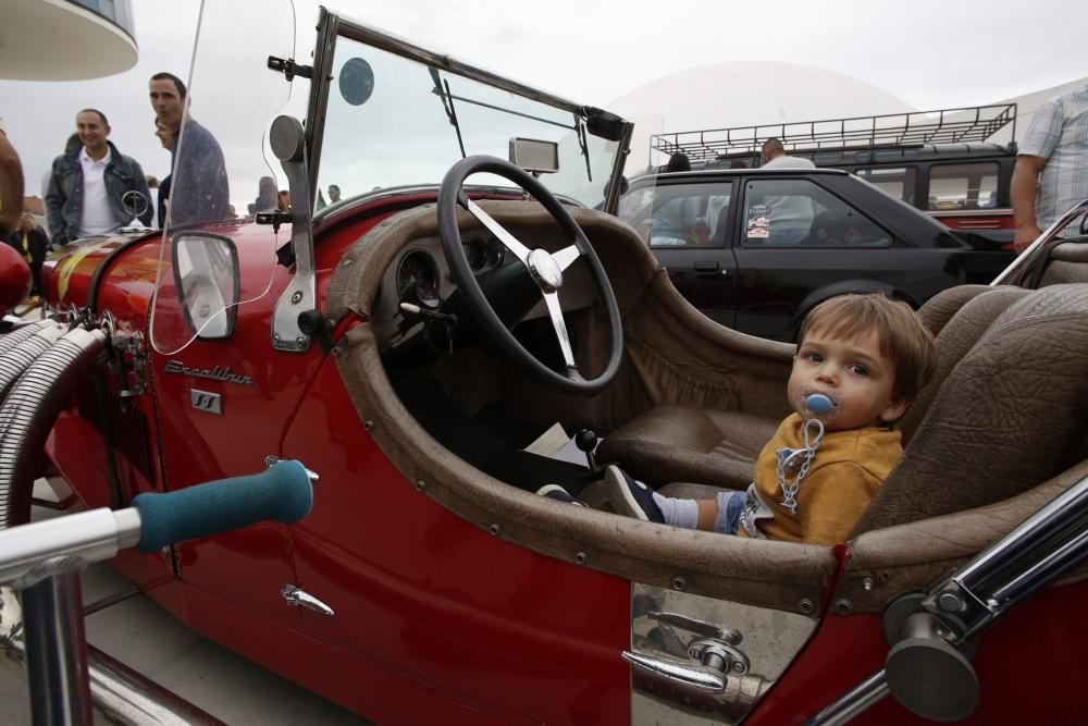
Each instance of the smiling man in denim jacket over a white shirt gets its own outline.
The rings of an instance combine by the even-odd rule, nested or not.
[[[84,109],[75,116],[83,147],[58,157],[46,193],[46,218],[54,245],[91,235],[112,234],[132,221],[131,192],[144,196],[146,209],[139,214],[151,222],[151,190],[144,170],[109,140],[110,123],[98,109]]]

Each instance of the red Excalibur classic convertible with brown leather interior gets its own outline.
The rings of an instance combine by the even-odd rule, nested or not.
[[[298,524],[113,562],[383,724],[1084,718],[1088,288],[1051,284],[1084,279],[1083,227],[923,308],[938,377],[848,542],[620,517],[606,462],[746,485],[794,353],[702,316],[606,213],[631,125],[325,11],[304,65],[279,5],[214,8],[194,115],[236,209],[264,175],[292,208],[59,250],[55,315],[0,336],[73,350],[33,416],[4,399],[0,527],[37,476],[119,508],[300,460]]]

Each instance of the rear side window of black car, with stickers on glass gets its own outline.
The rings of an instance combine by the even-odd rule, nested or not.
[[[890,247],[891,235],[857,209],[807,180],[749,181],[744,247]]]

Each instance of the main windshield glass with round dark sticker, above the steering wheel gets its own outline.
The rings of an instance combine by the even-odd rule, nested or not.
[[[573,111],[345,37],[336,40],[332,67],[317,208],[437,185],[463,156],[509,159],[514,137],[558,144],[559,171],[541,175],[553,193],[586,207],[604,201],[619,143],[586,132]],[[472,184],[510,186],[485,174]]]

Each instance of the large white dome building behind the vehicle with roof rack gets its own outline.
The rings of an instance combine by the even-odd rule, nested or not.
[[[633,121],[628,175],[665,163],[651,153],[654,134],[768,126],[819,119],[915,111],[906,101],[867,83],[812,65],[737,61],[703,65],[658,78],[606,107]]]

